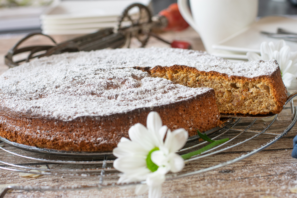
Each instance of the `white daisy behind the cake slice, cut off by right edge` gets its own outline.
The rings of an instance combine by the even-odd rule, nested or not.
[[[254,52],[248,52],[249,61],[275,59],[282,73],[282,80],[288,90],[297,89],[297,51],[291,52],[291,48],[284,40],[279,40],[276,45],[273,42],[262,42],[261,56]]]

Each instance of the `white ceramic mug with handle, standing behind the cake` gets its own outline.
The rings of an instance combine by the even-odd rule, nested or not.
[[[257,17],[258,0],[178,0],[183,18],[201,37],[208,53],[212,45],[249,26]]]

